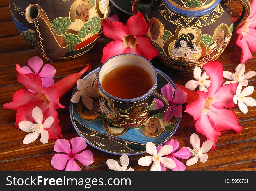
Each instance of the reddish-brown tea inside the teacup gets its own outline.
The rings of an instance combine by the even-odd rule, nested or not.
[[[115,97],[132,99],[147,93],[154,85],[154,81],[142,67],[124,65],[105,74],[101,85],[106,92]]]

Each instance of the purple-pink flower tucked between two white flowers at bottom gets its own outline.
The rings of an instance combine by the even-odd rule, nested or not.
[[[183,147],[183,148],[179,149],[179,151],[175,152],[179,148],[179,141],[174,140],[174,139],[169,140],[164,145],[172,145],[173,146],[173,151],[170,154],[165,156],[167,158],[171,158],[176,163],[176,167],[172,168],[171,170],[182,170],[182,171],[185,170],[186,166],[182,162],[177,160],[176,157],[182,158],[182,159],[188,159],[189,157],[191,157],[191,152],[189,151],[189,149],[186,147]],[[162,146],[157,147],[157,151],[159,151],[161,148],[162,148]],[[162,171],[167,169],[162,164],[160,164],[160,166],[161,166]]]

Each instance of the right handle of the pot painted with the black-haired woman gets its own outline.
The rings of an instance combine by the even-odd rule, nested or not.
[[[233,24],[233,26],[234,26],[233,32],[234,32],[238,28],[240,28],[240,26],[243,24],[243,22],[245,22],[247,17],[250,15],[250,10],[251,10],[250,2],[248,0],[224,0],[221,2],[225,6],[229,5],[230,3],[234,3],[234,2],[240,3],[243,6],[242,14]]]

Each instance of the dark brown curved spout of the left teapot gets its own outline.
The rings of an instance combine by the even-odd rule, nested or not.
[[[30,4],[26,8],[25,18],[34,26],[37,48],[41,56],[47,60],[57,60],[66,53],[66,37],[52,28],[45,11],[38,4]]]

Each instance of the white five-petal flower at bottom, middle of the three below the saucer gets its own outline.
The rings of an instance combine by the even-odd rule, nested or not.
[[[157,153],[157,147],[152,142],[147,142],[146,152],[152,156],[145,156],[138,160],[138,164],[141,166],[148,166],[154,161],[150,170],[161,170],[160,163],[166,168],[172,169],[176,167],[176,163],[164,155],[168,155],[173,151],[172,145],[164,145]]]

